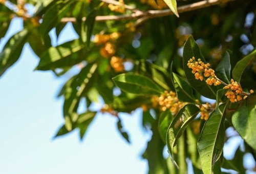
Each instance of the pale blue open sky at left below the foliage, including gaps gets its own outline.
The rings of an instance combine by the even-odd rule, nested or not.
[[[14,19],[0,50],[20,30],[22,20]],[[72,33],[68,26],[58,43],[75,38]],[[116,118],[101,114],[83,141],[76,131],[53,140],[63,123],[62,99],[56,95],[67,77],[33,71],[38,60],[26,44],[18,62],[0,77],[0,173],[146,173],[140,155],[150,136],[140,128],[139,110],[121,115],[131,145],[117,133]]]

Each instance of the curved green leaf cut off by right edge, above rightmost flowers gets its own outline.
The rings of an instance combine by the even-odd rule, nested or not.
[[[255,55],[256,50],[252,51],[250,54],[248,54],[247,56],[245,56],[237,62],[236,66],[234,66],[234,69],[232,71],[234,81],[240,82],[244,69],[251,62],[251,60],[255,58]]]

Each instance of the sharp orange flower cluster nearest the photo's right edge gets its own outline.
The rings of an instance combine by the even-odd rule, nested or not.
[[[224,86],[223,89],[228,89],[228,91],[226,92],[225,96],[227,96],[227,98],[231,101],[231,102],[237,102],[242,100],[242,96],[243,96],[243,89],[240,86],[240,84],[237,81],[234,81],[233,79],[231,79],[231,84],[228,84],[226,86]],[[252,94],[254,91],[250,90],[250,93]],[[246,95],[244,95],[243,97],[244,99],[247,98]]]

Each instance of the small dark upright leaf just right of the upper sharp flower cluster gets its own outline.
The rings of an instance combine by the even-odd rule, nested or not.
[[[216,76],[226,83],[230,83],[230,56],[226,51],[225,56],[222,58],[216,67]]]

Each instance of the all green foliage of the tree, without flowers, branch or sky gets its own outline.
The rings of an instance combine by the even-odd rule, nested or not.
[[[175,0],[164,2],[178,15]],[[177,2],[187,5],[197,1]],[[13,0],[8,3],[13,3],[14,7],[18,4]],[[187,61],[192,57],[203,62],[207,60],[226,83],[230,83],[232,76],[243,89],[256,86],[256,51],[251,51],[256,38],[255,18],[248,19],[255,15],[253,0],[182,13],[179,18],[158,17],[132,30],[129,26],[136,23],[136,19],[96,21],[96,16],[120,15],[101,1],[38,0],[26,3],[34,7],[31,16],[22,16],[10,5],[0,4],[0,38],[5,36],[13,17],[24,19],[24,29],[7,41],[0,54],[0,75],[18,60],[26,43],[40,58],[38,71],[65,76],[67,72],[73,72],[74,66],[80,68],[80,72],[59,92],[58,96],[64,98],[65,123],[56,136],[78,128],[82,138],[96,116],[90,106],[101,97],[107,106],[102,111],[117,117],[118,130],[128,142],[129,136],[122,128],[118,112],[131,113],[144,107],[142,126],[153,132],[143,154],[148,160],[149,173],[186,173],[186,158],[192,162],[195,173],[220,173],[221,167],[245,172],[239,160],[243,160],[245,153],[255,156],[256,150],[253,128],[256,96],[252,94],[245,100],[230,103],[224,96],[223,85],[209,86],[205,79],[196,80]],[[127,0],[125,4],[140,10],[152,9],[150,4],[142,1]],[[125,10],[125,15],[131,13]],[[79,38],[52,46],[49,32],[54,29],[58,37],[69,17],[72,21],[75,18],[72,26]],[[110,59],[100,54],[102,46],[92,40],[96,34],[114,32],[120,34],[114,43],[115,56],[130,63],[130,67],[124,66],[123,72],[115,71]],[[198,38],[197,42],[189,34]],[[225,53],[226,49],[233,51],[231,56],[229,52]],[[118,95],[113,93],[115,86],[122,90]],[[186,103],[176,115],[153,106],[152,97],[164,91],[176,92],[178,99]],[[197,117],[202,96],[216,100],[216,107],[207,121]],[[82,99],[86,99],[87,112],[79,113]],[[222,155],[224,143],[229,138],[225,135],[228,127],[234,127],[245,140],[245,150],[238,149],[233,160],[226,160]],[[165,145],[172,160],[163,157]]]

